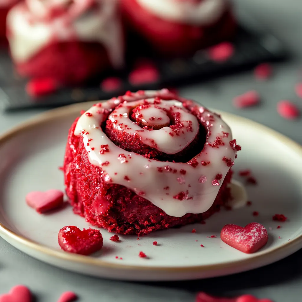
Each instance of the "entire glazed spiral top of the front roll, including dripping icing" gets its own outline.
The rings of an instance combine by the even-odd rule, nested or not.
[[[240,149],[219,115],[167,89],[95,104],[75,135],[104,182],[176,217],[210,208]]]

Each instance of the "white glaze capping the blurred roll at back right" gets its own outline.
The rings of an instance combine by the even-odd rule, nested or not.
[[[126,0],[127,1],[127,0]],[[159,18],[185,24],[206,25],[217,21],[226,9],[226,0],[136,0]]]

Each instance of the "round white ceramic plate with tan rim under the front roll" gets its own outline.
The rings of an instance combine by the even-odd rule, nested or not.
[[[25,195],[33,190],[63,190],[63,173],[58,167],[63,162],[68,129],[80,110],[91,105],[49,111],[0,138],[0,235],[13,246],[71,271],[139,281],[232,274],[275,262],[302,247],[302,147],[255,122],[222,113],[242,146],[235,172],[252,169],[259,182],[247,187],[252,206],[221,210],[206,224],[158,231],[139,240],[136,236],[120,236],[120,242],[111,242],[112,233],[101,230],[104,247],[89,257],[61,251],[59,229],[66,225],[87,228],[88,223],[74,215],[71,207],[39,215],[27,207]],[[235,178],[242,180],[237,173]],[[252,216],[253,211],[259,211],[259,216]],[[274,214],[284,214],[288,220],[275,222]],[[223,225],[245,226],[253,221],[264,224],[269,233],[268,244],[259,252],[246,255],[221,241]],[[277,229],[278,225],[281,228]],[[196,233],[191,233],[193,228]],[[217,238],[207,238],[211,235]],[[157,246],[153,246],[154,240]],[[139,258],[140,251],[148,258]]]

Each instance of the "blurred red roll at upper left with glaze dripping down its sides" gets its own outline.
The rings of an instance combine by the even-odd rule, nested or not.
[[[77,84],[123,64],[115,0],[26,0],[8,14],[11,56],[22,76]]]

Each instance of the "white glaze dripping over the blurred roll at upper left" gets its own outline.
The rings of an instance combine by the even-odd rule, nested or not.
[[[99,42],[115,68],[123,65],[123,33],[116,0],[27,0],[8,13],[8,40],[13,59],[24,62],[53,41]],[[95,6],[92,4],[95,3]],[[51,16],[54,9],[66,9]]]

